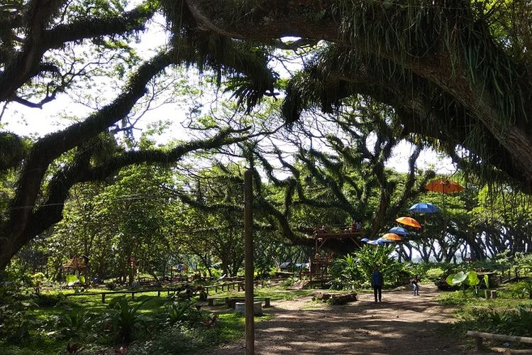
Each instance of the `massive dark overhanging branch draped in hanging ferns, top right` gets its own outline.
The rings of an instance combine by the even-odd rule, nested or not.
[[[198,31],[272,45],[326,41],[289,84],[289,121],[367,94],[392,105],[405,132],[437,138],[452,155],[464,147],[488,178],[505,175],[531,192],[530,1],[184,3]]]

